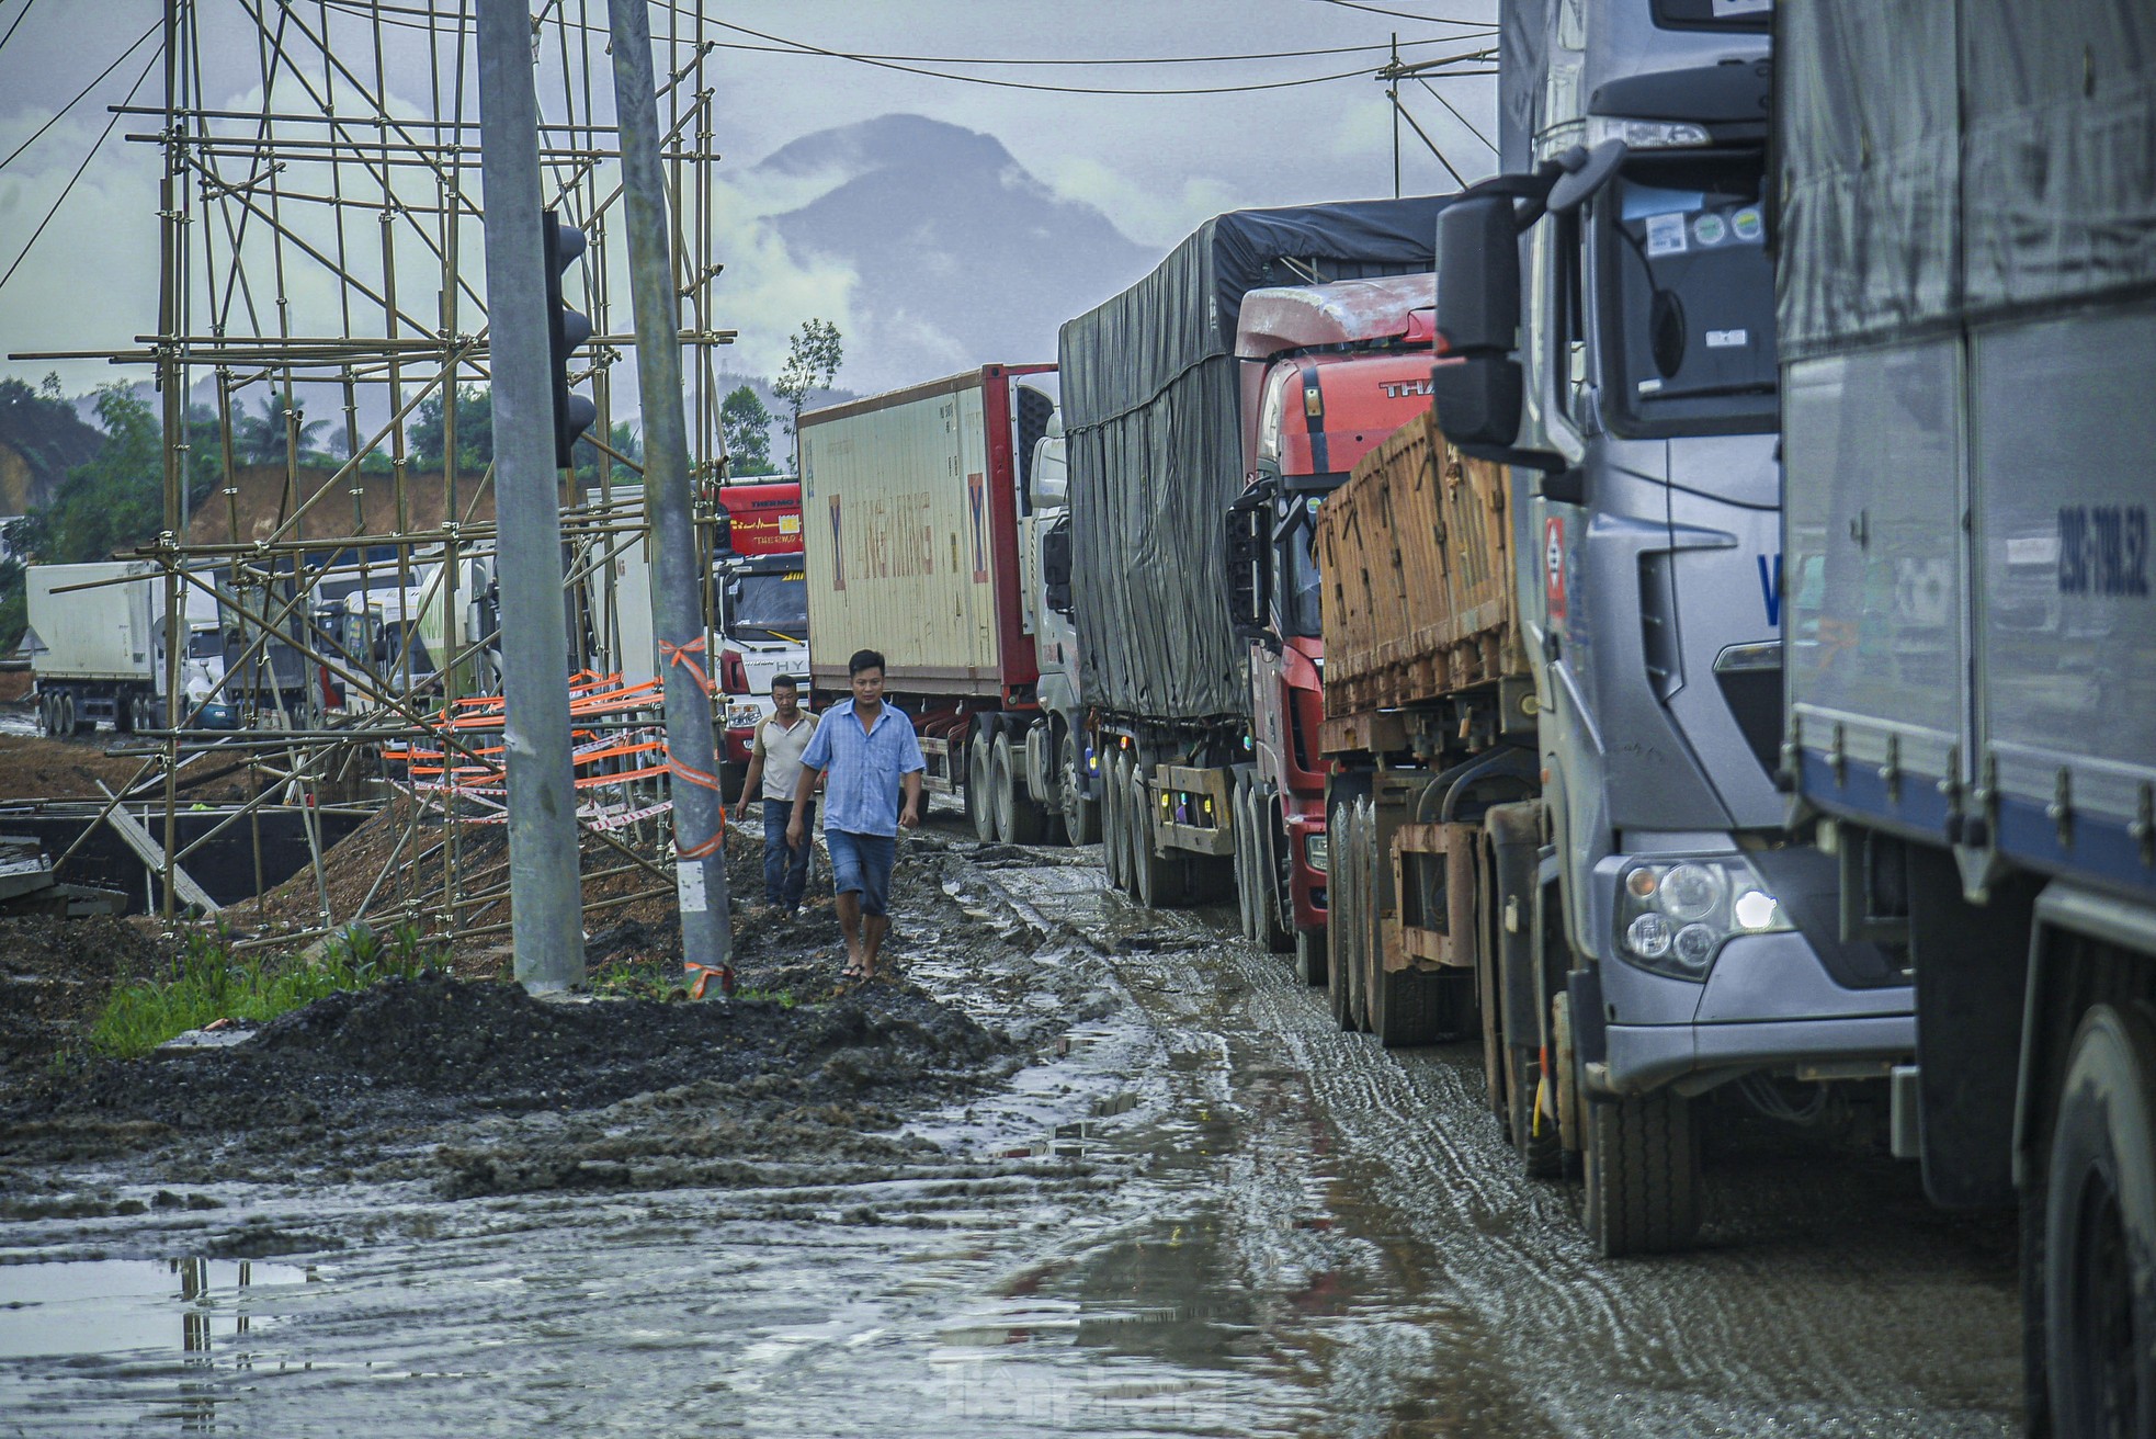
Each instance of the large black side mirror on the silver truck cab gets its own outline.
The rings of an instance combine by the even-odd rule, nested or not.
[[[1511,358],[1520,332],[1520,231],[1509,194],[1477,194],[1438,211],[1438,334],[1429,371],[1438,427],[1453,444],[1509,447],[1520,434],[1524,382]]]

